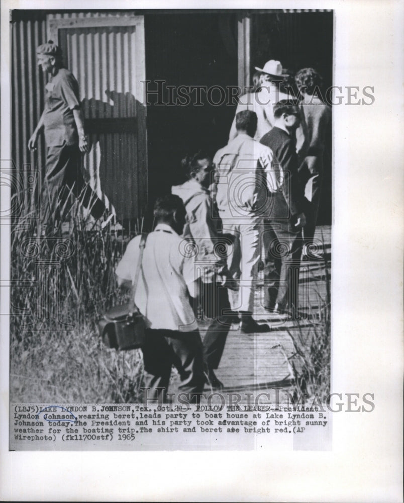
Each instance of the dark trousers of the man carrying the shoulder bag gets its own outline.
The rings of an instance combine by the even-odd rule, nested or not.
[[[178,391],[186,393],[183,401],[197,403],[204,389],[203,346],[198,330],[148,329],[142,347],[144,361],[144,386],[150,399],[159,394],[167,401],[171,366],[178,369],[181,384]],[[158,390],[157,388],[163,388]]]

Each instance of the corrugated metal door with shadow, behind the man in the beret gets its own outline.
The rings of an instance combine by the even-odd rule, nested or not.
[[[138,215],[145,203],[146,141],[139,125],[139,68],[142,41],[138,27],[117,26],[60,30],[68,67],[76,76],[92,148],[84,156],[91,185],[107,196],[122,218]]]

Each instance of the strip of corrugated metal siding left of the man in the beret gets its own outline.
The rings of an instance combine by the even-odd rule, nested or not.
[[[44,86],[46,79],[36,61],[36,47],[46,41],[46,21],[17,21],[12,24],[12,129],[11,151],[18,176],[28,188],[29,165],[40,173],[45,166],[45,144],[41,135],[38,150],[28,150],[28,140],[33,133],[44,107]],[[38,197],[37,190],[25,193],[24,209],[31,211]]]

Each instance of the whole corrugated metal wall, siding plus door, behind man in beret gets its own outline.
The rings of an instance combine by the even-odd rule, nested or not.
[[[44,107],[47,76],[36,63],[36,47],[49,38],[49,21],[123,18],[131,12],[48,14],[47,19],[13,23],[12,152],[19,171],[34,162],[27,143]],[[38,15],[35,16],[38,18]],[[143,27],[110,26],[59,29],[69,69],[79,83],[92,148],[84,156],[89,181],[111,201],[119,218],[135,218],[147,203],[146,111],[143,101]],[[142,92],[141,92],[142,91]],[[39,142],[37,165],[44,171],[45,145]],[[34,196],[32,196],[34,198]]]

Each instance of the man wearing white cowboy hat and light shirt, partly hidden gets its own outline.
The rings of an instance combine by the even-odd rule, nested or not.
[[[280,100],[287,100],[291,97],[279,90],[279,83],[288,77],[282,72],[282,65],[279,61],[271,59],[265,63],[263,68],[256,66],[255,69],[261,72],[259,90],[256,93],[246,93],[239,98],[236,114],[242,110],[252,110],[257,114],[258,124],[254,139],[259,141],[273,126],[273,105]],[[236,135],[235,117],[230,129],[229,141],[233,140]]]

